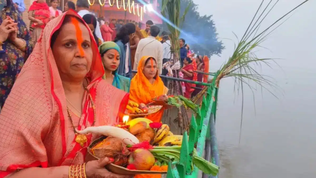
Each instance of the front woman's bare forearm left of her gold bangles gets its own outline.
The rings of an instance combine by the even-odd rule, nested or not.
[[[30,178],[68,178],[69,175],[69,166],[58,166],[51,168],[25,168],[20,171],[16,171],[5,178],[21,178],[21,177],[30,177]]]

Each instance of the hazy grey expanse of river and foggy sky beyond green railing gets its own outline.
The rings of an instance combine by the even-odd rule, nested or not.
[[[213,15],[221,38],[235,42],[234,31],[243,35],[261,1],[212,1],[199,4],[202,15]],[[262,26],[289,11],[301,0],[280,0]],[[204,5],[202,5],[204,4]],[[217,137],[221,157],[220,178],[315,178],[316,177],[316,7],[310,1],[278,28],[259,50],[262,58],[282,58],[263,66],[260,73],[274,77],[281,90],[273,91],[274,97],[258,87],[252,92],[244,86],[244,112],[241,139],[241,95],[234,94],[234,80],[223,79],[219,89],[216,119]],[[223,42],[226,49],[221,57],[212,56],[210,67],[215,71],[232,54],[234,43]],[[254,84],[252,84],[254,85]],[[271,87],[268,87],[272,89]],[[255,103],[255,109],[254,109]]]

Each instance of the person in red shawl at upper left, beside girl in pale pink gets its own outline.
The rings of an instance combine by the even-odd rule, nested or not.
[[[28,9],[32,40],[37,42],[46,24],[51,20],[51,12],[44,0],[37,0]]]

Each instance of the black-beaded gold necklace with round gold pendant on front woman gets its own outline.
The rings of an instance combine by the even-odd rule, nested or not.
[[[97,118],[97,115],[96,115],[96,112],[95,112],[95,105],[94,105],[92,96],[91,96],[91,94],[89,93],[88,89],[87,89],[86,87],[85,87],[85,89],[86,89],[87,92],[88,92],[89,99],[90,99],[90,101],[91,101],[91,105],[92,105],[92,108],[93,108],[93,123],[92,123],[92,126],[93,126],[94,123],[95,123],[95,120],[96,120],[96,118]],[[86,134],[79,134],[79,133],[76,131],[76,128],[75,128],[74,123],[73,123],[73,121],[72,121],[72,116],[71,116],[71,113],[70,113],[70,109],[68,108],[68,106],[67,106],[67,112],[68,112],[68,117],[69,117],[69,119],[70,119],[71,126],[72,126],[72,128],[73,128],[73,130],[74,130],[74,132],[75,132],[75,134],[76,134],[76,139],[75,139],[75,141],[76,141],[77,143],[79,143],[79,144],[83,147],[84,143],[86,143],[86,142],[88,141],[88,138],[87,138]]]

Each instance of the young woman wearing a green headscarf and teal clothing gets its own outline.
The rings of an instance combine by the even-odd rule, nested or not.
[[[103,79],[112,83],[112,86],[129,92],[131,79],[117,73],[121,55],[119,46],[113,41],[106,41],[99,46],[99,52],[105,70]]]

